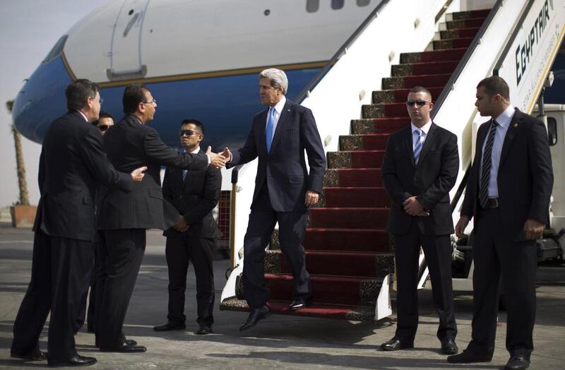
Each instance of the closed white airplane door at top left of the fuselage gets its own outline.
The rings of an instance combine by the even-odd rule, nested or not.
[[[141,30],[149,0],[125,0],[112,33],[109,80],[141,78],[147,68],[141,64]]]

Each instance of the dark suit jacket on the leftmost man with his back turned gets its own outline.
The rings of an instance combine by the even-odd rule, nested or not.
[[[34,231],[40,227],[53,237],[93,241],[99,185],[129,193],[133,179],[112,167],[98,130],[81,113],[68,112],[45,133]]]

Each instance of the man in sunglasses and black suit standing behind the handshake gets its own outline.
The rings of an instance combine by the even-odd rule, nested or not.
[[[186,153],[201,151],[204,126],[196,119],[182,121],[181,145]],[[184,291],[186,272],[192,261],[196,275],[196,302],[200,326],[196,334],[212,333],[214,323],[214,239],[221,236],[212,210],[218,204],[222,189],[220,169],[186,171],[167,167],[163,180],[163,197],[180,213],[175,225],[163,235],[167,237],[165,255],[169,268],[169,314],[167,323],[155,326],[155,331],[182,330],[186,328],[184,316]]]

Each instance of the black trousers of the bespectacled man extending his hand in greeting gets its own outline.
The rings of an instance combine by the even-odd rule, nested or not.
[[[145,229],[104,230],[99,239],[95,333],[98,347],[114,349],[124,341],[122,328],[145,253]]]

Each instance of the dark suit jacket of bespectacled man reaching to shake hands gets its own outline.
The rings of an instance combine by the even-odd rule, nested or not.
[[[124,172],[147,166],[143,181],[135,182],[131,193],[107,189],[98,213],[98,229],[167,229],[178,213],[163,202],[161,165],[186,169],[206,169],[205,154],[179,153],[163,143],[157,131],[126,116],[104,136],[110,162]]]

